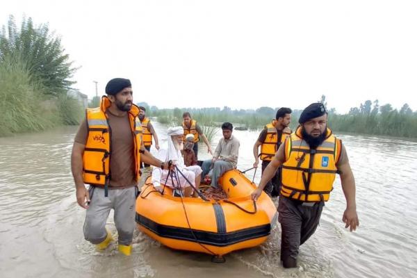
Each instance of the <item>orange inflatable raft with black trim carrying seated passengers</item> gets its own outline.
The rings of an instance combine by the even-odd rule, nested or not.
[[[231,170],[219,181],[227,199],[215,201],[174,197],[165,187],[156,192],[148,177],[136,199],[138,229],[177,250],[222,256],[263,243],[277,221],[277,209],[265,193],[256,201],[256,188],[244,174]]]

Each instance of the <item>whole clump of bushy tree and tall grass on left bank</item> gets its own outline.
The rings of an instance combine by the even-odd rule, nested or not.
[[[0,136],[78,124],[83,107],[67,95],[75,72],[60,39],[31,18],[0,31]]]

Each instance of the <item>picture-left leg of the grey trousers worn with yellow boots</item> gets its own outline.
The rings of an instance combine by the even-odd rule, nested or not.
[[[110,191],[109,195],[110,195]],[[85,213],[84,238],[99,244],[107,237],[106,220],[112,208],[111,199],[104,197],[103,188],[94,188],[90,205]]]

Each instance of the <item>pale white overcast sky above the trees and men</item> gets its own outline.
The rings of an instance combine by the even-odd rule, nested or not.
[[[159,108],[304,108],[366,99],[417,110],[417,1],[2,1],[49,22],[81,67],[76,88],[131,79]]]

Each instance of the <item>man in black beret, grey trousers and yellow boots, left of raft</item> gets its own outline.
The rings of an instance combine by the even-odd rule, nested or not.
[[[111,79],[100,107],[87,109],[72,148],[72,175],[76,200],[87,209],[84,237],[104,250],[113,241],[106,220],[114,209],[118,249],[131,254],[139,165],[145,163],[167,170],[168,166],[147,152],[142,142],[140,109],[133,104],[129,79]],[[87,190],[85,184],[90,184]]]

